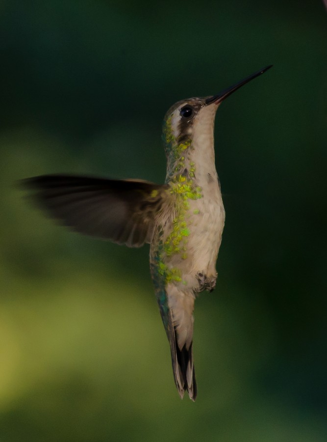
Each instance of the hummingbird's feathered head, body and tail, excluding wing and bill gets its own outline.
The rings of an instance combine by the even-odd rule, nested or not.
[[[189,118],[180,110],[190,106]],[[197,394],[192,355],[196,295],[213,290],[225,211],[215,168],[213,127],[218,104],[192,98],[166,114],[166,208],[156,218],[150,249],[151,275],[171,346],[181,397]]]

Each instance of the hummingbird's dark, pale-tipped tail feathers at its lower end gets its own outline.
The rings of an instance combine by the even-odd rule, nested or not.
[[[175,327],[172,327],[169,341],[171,347],[174,379],[178,393],[183,399],[184,391],[187,390],[190,399],[195,401],[198,389],[193,363],[193,343],[191,342],[189,349],[187,349],[184,345],[180,350],[177,344],[177,333]]]

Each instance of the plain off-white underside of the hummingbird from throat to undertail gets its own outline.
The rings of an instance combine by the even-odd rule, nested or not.
[[[216,105],[201,109],[201,118],[192,129],[192,146],[186,153],[187,161],[195,165],[196,185],[201,188],[200,199],[189,199],[185,217],[190,234],[186,244],[186,259],[181,254],[167,258],[170,268],[181,269],[181,282],[167,285],[168,305],[173,313],[178,347],[188,348],[193,337],[193,309],[195,293],[199,289],[198,273],[215,278],[216,261],[222,241],[225,210],[215,167],[213,121]],[[171,214],[171,217],[174,214]],[[172,222],[172,219],[170,220]],[[165,234],[170,233],[171,222]],[[170,226],[169,226],[170,224]]]

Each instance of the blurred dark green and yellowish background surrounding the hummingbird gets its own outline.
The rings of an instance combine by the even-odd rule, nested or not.
[[[0,441],[327,440],[327,13],[322,1],[0,2]],[[218,111],[226,208],[181,401],[149,247],[79,236],[15,180],[163,182],[161,122]]]

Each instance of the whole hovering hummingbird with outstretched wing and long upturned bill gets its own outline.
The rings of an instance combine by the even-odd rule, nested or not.
[[[220,104],[272,65],[219,94],[178,101],[163,121],[164,184],[92,176],[23,180],[50,215],[71,229],[128,247],[150,244],[150,270],[181,398],[197,397],[194,302],[216,285],[225,210],[215,166],[214,121]]]

